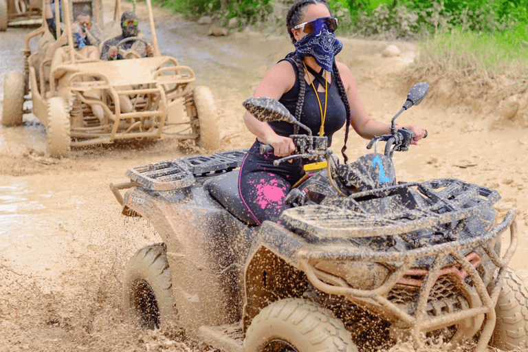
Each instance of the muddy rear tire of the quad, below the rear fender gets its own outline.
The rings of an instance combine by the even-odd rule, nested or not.
[[[126,267],[123,281],[124,314],[148,329],[174,320],[173,278],[163,243],[137,251]]]

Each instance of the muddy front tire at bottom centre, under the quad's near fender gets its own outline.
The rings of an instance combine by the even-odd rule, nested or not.
[[[245,336],[248,352],[358,351],[341,320],[300,298],[278,300],[262,309]]]

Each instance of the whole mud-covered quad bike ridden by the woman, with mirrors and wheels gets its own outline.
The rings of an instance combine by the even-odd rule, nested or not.
[[[516,210],[496,221],[498,192],[459,179],[395,180],[393,152],[415,137],[395,119],[427,90],[415,85],[391,133],[351,164],[336,161],[326,137],[292,135],[296,155],[276,162],[324,168],[289,192],[280,223],[256,225],[243,206],[247,150],[129,168],[131,181],[110,188],[161,243],[129,261],[125,314],[148,328],[175,322],[230,352],[369,351],[404,339],[527,348],[528,291],[508,267]],[[244,104],[261,121],[305,128],[274,99]]]

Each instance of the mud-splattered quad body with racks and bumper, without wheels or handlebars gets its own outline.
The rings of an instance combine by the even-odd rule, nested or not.
[[[507,267],[516,239],[514,210],[494,225],[496,191],[435,179],[349,197],[329,192],[320,203],[286,210],[281,225],[257,227],[239,219],[228,199],[238,192],[244,153],[136,166],[130,183],[113,185],[117,194],[131,187],[123,214],[148,219],[166,243],[182,325],[197,331],[241,321],[245,331],[263,307],[303,297],[332,298],[350,327],[351,310],[369,311],[391,338],[443,331],[463,342],[492,333],[497,268]],[[511,245],[500,258],[500,235],[510,225]]]

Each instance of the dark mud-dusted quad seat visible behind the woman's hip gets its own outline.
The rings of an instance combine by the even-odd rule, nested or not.
[[[208,179],[203,183],[203,189],[243,223],[258,225],[240,198],[239,170]]]

